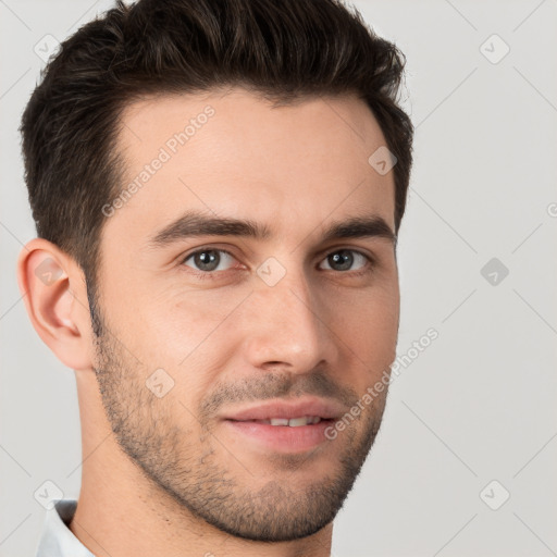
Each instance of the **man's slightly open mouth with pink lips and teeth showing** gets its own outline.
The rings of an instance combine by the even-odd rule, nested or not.
[[[275,400],[223,418],[235,438],[265,453],[296,454],[329,441],[325,430],[343,414],[337,403],[323,399]]]

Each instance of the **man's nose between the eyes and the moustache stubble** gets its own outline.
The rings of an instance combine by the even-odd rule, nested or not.
[[[301,270],[289,270],[274,286],[261,282],[245,313],[244,346],[249,363],[293,373],[331,366],[337,356],[338,338],[327,322],[330,311]]]

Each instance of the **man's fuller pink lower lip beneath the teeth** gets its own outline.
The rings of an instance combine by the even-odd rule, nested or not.
[[[282,453],[301,453],[318,447],[325,441],[325,430],[334,420],[322,420],[310,425],[271,425],[250,421],[225,420],[235,433],[249,437],[267,449]]]

